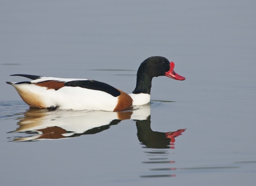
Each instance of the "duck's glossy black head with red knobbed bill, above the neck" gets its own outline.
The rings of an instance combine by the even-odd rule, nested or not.
[[[175,80],[185,80],[185,77],[174,71],[174,63],[169,62],[165,57],[153,56],[143,61],[137,75],[147,74],[150,78],[165,75]]]

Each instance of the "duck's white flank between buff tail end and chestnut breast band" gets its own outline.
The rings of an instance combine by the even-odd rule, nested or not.
[[[81,87],[62,87],[59,90],[54,90],[27,83],[12,85],[19,94],[22,91],[26,94],[36,95],[45,107],[58,106],[60,109],[114,111],[118,101],[117,97],[106,92]]]

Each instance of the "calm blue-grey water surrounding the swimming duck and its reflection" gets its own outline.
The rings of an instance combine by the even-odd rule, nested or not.
[[[254,185],[255,10],[255,1],[1,1],[1,184]],[[152,131],[186,129],[169,148],[145,148],[138,121],[100,127],[101,116],[89,126],[102,132],[12,142],[36,136],[9,133],[17,123],[39,117],[69,130],[78,123],[78,131],[87,117],[33,115],[5,83],[25,78],[10,74],[90,78],[131,92],[139,64],[154,55],[187,78],[153,79],[155,101],[139,109]],[[149,113],[151,123],[143,119]]]

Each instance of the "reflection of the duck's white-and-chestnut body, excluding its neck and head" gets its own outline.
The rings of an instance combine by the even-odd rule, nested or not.
[[[32,134],[27,137],[13,137],[10,138],[11,141],[74,138],[107,130],[111,125],[131,119],[132,113],[131,111],[48,111],[30,108],[24,117],[19,118],[19,127],[8,133]]]

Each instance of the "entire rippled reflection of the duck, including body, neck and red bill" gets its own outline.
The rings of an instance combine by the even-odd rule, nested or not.
[[[143,164],[169,164],[170,150],[174,148],[175,138],[186,129],[173,132],[157,132],[151,130],[150,104],[133,107],[123,112],[101,111],[47,111],[46,109],[30,108],[19,118],[18,128],[8,133],[29,134],[26,137],[11,137],[10,141],[38,141],[46,139],[66,139],[85,134],[95,134],[107,130],[122,120],[133,120],[137,126],[137,136],[149,157]],[[149,169],[155,171],[157,169]],[[140,177],[171,177],[175,174],[152,174]]]

